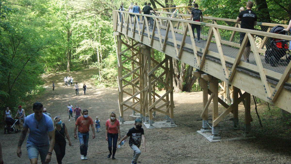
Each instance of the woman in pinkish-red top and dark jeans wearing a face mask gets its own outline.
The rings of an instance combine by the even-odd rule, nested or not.
[[[109,154],[107,158],[110,158],[112,155],[112,159],[114,158],[116,152],[117,140],[120,140],[120,129],[119,129],[119,121],[116,119],[116,114],[111,112],[109,115],[109,119],[106,121],[106,129],[105,129],[105,139],[108,141],[108,150]],[[112,140],[113,140],[113,152],[112,150]]]

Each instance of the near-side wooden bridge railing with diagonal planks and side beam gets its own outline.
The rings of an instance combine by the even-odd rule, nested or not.
[[[291,78],[289,77],[291,62],[276,68],[265,64],[260,55],[261,49],[254,37],[279,38],[289,42],[291,36],[216,23],[146,15],[153,19],[154,28],[149,29],[147,19],[140,23],[137,21],[137,15],[145,15],[130,14],[134,14],[133,22],[129,12],[113,11],[113,29],[291,112],[289,103],[286,103],[290,102],[291,97]],[[201,38],[205,39],[201,43],[195,42],[196,34],[192,33],[191,24],[207,27],[206,31],[201,32],[203,34]],[[239,44],[237,35],[232,40],[225,40],[226,37],[231,37],[232,32],[246,33],[242,45]],[[253,52],[252,61],[244,62],[241,57],[248,41]]]

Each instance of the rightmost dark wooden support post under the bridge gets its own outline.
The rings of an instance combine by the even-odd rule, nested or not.
[[[245,93],[244,128],[245,137],[250,136],[251,132],[251,94]]]

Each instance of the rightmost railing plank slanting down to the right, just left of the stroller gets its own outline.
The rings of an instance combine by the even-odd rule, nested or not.
[[[255,57],[255,62],[256,62],[257,66],[258,66],[258,69],[259,69],[259,73],[260,73],[260,77],[261,77],[261,80],[262,80],[262,84],[265,85],[265,88],[266,88],[266,91],[267,91],[266,95],[268,97],[271,97],[271,90],[270,90],[270,87],[269,87],[269,83],[267,82],[267,77],[266,77],[265,70],[264,70],[263,65],[262,65],[262,61],[260,59],[258,48],[256,48],[256,45],[255,45],[255,38],[250,33],[248,33],[248,36],[249,36],[249,40],[250,40],[250,43],[251,43],[252,48],[253,48],[253,54],[254,54],[254,57]]]

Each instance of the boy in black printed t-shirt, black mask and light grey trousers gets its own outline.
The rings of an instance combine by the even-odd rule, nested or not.
[[[129,146],[133,150],[132,163],[136,164],[137,158],[139,158],[139,155],[141,155],[141,151],[139,150],[139,147],[141,146],[141,140],[143,141],[143,149],[145,149],[145,135],[143,132],[143,128],[141,128],[142,126],[141,119],[135,119],[134,125],[135,126],[129,129],[127,134],[120,140],[119,144],[121,144],[122,141],[127,139],[127,137],[130,137]]]

